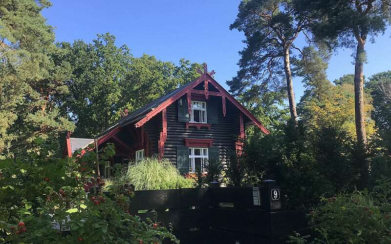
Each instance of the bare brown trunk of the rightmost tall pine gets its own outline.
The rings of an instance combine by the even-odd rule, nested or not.
[[[367,144],[367,134],[364,123],[364,60],[365,60],[365,41],[358,40],[356,59],[354,66],[354,113],[356,120],[357,142],[364,148]]]

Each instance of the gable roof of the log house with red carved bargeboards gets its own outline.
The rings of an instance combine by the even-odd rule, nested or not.
[[[252,122],[254,122],[265,134],[269,134],[269,131],[262,125],[262,123],[248,111],[240,102],[238,102],[227,90],[225,90],[212,76],[208,73],[205,73],[195,79],[194,81],[188,82],[183,86],[176,88],[175,90],[167,93],[166,95],[144,105],[143,107],[137,109],[133,113],[121,118],[119,121],[110,125],[107,129],[102,131],[98,136],[95,137],[96,140],[102,141],[105,138],[108,138],[108,134],[112,134],[117,131],[119,128],[126,126],[130,123],[133,123],[136,127],[140,127],[145,122],[149,121],[152,117],[161,112],[164,108],[168,107],[170,104],[175,102],[177,99],[185,95],[189,90],[193,89],[199,83],[208,80],[212,83],[230,102],[239,108],[239,110],[246,115]]]

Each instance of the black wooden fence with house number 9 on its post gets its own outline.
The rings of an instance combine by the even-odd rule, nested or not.
[[[130,213],[172,224],[183,244],[280,244],[307,226],[304,213],[279,211],[276,186],[136,191]],[[278,190],[279,191],[279,190]],[[278,199],[277,199],[278,198]],[[154,211],[152,211],[154,210]]]

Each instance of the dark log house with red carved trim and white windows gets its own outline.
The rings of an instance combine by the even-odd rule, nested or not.
[[[138,162],[156,154],[188,173],[194,172],[195,164],[203,167],[211,158],[226,160],[230,153],[240,153],[245,126],[255,125],[269,133],[215,81],[214,71],[208,72],[205,63],[198,72],[201,76],[195,81],[125,114],[94,139],[68,136],[64,155],[71,156],[78,146],[83,149],[91,142],[98,149],[114,143],[116,155],[111,163]],[[106,176],[110,166],[105,167]]]

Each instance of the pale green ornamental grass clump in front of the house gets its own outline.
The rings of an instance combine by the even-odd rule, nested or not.
[[[185,179],[167,159],[144,158],[131,162],[123,175],[123,181],[134,185],[135,190],[160,190],[192,187],[192,181]]]

